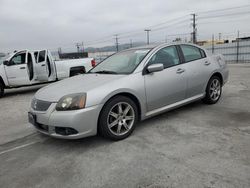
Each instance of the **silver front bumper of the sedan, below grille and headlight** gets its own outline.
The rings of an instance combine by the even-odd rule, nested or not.
[[[72,111],[56,111],[55,107],[56,103],[52,103],[46,112],[30,109],[29,118],[31,115],[35,117],[32,124],[39,132],[63,139],[79,139],[96,135],[102,105]],[[76,133],[65,135],[58,131],[66,128],[72,128]]]

